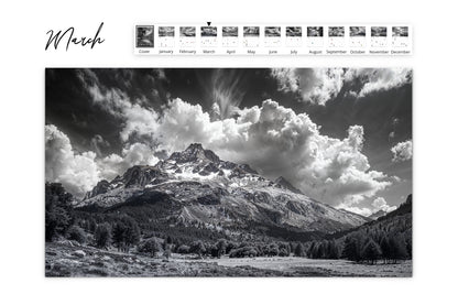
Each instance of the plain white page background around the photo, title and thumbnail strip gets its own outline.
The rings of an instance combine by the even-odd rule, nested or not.
[[[0,302],[2,304],[457,304],[457,39],[454,1],[2,1]],[[44,51],[75,26],[106,43]],[[408,23],[412,57],[133,56],[135,23]],[[414,68],[413,279],[45,279],[45,67]],[[291,303],[294,302],[294,303]]]

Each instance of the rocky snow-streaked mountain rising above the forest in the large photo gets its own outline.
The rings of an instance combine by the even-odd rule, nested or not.
[[[334,232],[367,221],[309,198],[283,177],[272,182],[247,164],[221,161],[197,143],[155,166],[132,166],[111,182],[100,182],[77,207],[149,205],[157,209],[157,219],[199,222],[226,231],[259,226]]]

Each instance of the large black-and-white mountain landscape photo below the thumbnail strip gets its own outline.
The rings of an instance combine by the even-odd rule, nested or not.
[[[412,276],[408,68],[47,68],[46,276]]]

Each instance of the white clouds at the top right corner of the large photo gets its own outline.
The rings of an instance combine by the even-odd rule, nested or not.
[[[412,81],[408,68],[273,68],[271,76],[279,89],[297,92],[304,101],[317,105],[335,98],[345,84],[361,83],[360,88],[347,91],[355,98],[390,90]]]

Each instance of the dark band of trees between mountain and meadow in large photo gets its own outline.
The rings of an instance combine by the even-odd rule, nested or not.
[[[349,232],[338,239],[312,242],[272,238],[238,239],[208,230],[203,224],[184,226],[141,221],[127,213],[91,213],[72,208],[73,197],[61,184],[46,184],[45,239],[117,251],[168,258],[172,252],[201,257],[307,257],[356,262],[394,263],[412,258],[412,220],[401,215]],[[133,215],[135,216],[135,215]],[[240,241],[242,240],[242,241]]]

